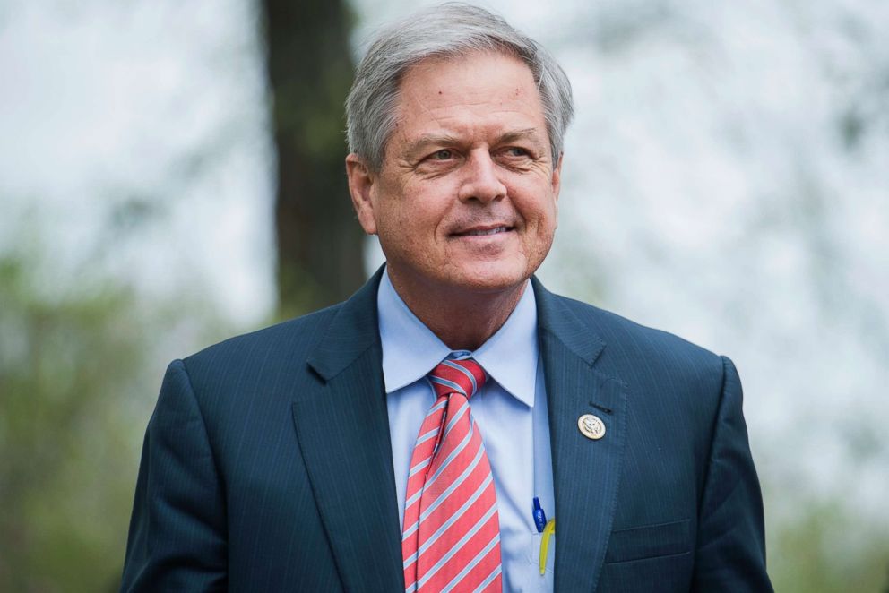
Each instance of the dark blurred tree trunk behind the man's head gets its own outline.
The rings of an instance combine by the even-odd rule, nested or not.
[[[281,312],[349,297],[365,279],[346,184],[344,103],[353,66],[343,0],[263,0],[278,150]]]

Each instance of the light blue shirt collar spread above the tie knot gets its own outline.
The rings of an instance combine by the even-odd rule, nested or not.
[[[384,271],[376,295],[380,341],[383,346],[383,379],[387,394],[419,381],[451,354],[404,304]],[[531,284],[525,286],[513,313],[472,357],[499,385],[534,407],[539,346],[537,304]]]

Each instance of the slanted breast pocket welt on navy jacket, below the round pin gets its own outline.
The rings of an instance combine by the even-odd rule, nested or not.
[[[612,531],[605,562],[624,563],[686,554],[691,550],[689,524],[686,519]]]

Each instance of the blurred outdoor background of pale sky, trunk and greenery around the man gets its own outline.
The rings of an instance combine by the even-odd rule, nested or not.
[[[117,588],[168,361],[348,296],[416,0],[0,2],[0,590]],[[889,4],[490,0],[574,84],[555,289],[729,355],[779,591],[889,591]]]

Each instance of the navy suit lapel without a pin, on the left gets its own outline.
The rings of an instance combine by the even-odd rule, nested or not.
[[[404,586],[376,322],[380,273],[333,318],[293,404],[299,447],[342,584]]]

